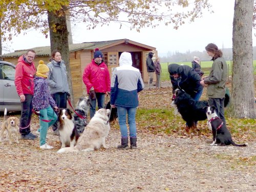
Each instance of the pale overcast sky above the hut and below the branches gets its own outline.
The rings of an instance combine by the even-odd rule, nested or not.
[[[231,48],[234,0],[210,0],[209,2],[215,13],[210,14],[205,11],[202,18],[198,18],[190,24],[186,23],[178,30],[173,29],[172,25],[160,25],[156,29],[141,29],[139,33],[136,30],[131,31],[127,27],[119,29],[119,25],[115,24],[86,30],[86,25],[80,23],[72,26],[73,43],[127,38],[156,47],[162,56],[168,51],[182,53],[188,50],[203,51],[209,42],[215,43],[219,48]],[[39,31],[30,31],[25,35],[14,37],[12,44],[6,42],[4,46],[7,46],[11,52],[50,46],[50,38],[46,39]],[[254,35],[253,46],[256,46]]]

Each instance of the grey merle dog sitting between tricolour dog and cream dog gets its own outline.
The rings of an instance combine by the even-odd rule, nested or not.
[[[89,99],[87,97],[80,97],[76,103],[74,116],[74,123],[76,125],[76,129],[78,134],[82,134],[84,131],[84,127],[88,124],[88,110],[89,110]]]

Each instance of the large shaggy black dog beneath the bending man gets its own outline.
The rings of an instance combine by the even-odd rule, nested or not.
[[[196,129],[196,122],[207,118],[205,106],[208,106],[208,102],[195,101],[183,90],[176,90],[174,104],[177,106],[182,119],[186,121],[188,129]]]

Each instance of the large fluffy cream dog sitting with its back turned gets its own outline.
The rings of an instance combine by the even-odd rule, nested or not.
[[[108,148],[105,145],[105,138],[110,131],[109,114],[110,110],[99,109],[85,127],[76,146],[61,148],[57,153],[89,152],[100,147]]]

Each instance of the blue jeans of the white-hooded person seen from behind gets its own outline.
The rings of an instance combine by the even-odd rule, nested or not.
[[[136,108],[122,108],[121,106],[117,106],[118,123],[120,126],[121,136],[128,137],[126,114],[128,114],[130,137],[136,137]]]

